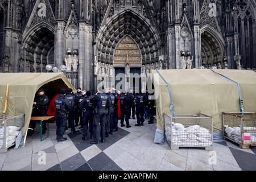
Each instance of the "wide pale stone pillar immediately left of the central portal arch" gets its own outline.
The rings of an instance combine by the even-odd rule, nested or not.
[[[79,21],[79,81],[83,89],[93,89],[92,25]]]

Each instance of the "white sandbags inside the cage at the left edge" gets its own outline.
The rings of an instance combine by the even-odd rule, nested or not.
[[[6,146],[3,146],[5,130],[3,127],[0,127],[0,148],[11,146],[15,142],[16,137],[19,135],[20,129],[20,127],[16,126],[6,127]]]

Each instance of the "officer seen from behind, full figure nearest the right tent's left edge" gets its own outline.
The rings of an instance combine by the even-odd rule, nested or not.
[[[140,93],[135,96],[137,125],[144,125],[144,105],[147,103],[146,94]]]

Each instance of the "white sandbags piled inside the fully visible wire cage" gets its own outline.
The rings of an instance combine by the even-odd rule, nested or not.
[[[212,146],[212,134],[199,125],[185,128],[180,123],[172,123],[172,135],[168,139],[177,146]]]

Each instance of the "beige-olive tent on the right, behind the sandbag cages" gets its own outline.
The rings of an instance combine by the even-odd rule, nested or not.
[[[207,114],[213,117],[215,131],[222,130],[222,112],[240,112],[236,82],[240,83],[245,111],[256,111],[256,73],[254,71],[224,69],[152,71],[152,82],[156,90],[158,125],[156,143],[163,143],[159,142],[161,137],[157,135],[163,135],[164,113],[173,114],[170,110],[168,86],[164,80],[170,85],[176,114]]]

